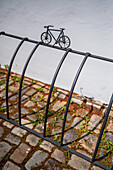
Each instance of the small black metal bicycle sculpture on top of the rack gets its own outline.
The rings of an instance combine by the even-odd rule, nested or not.
[[[53,38],[55,40],[55,44],[59,44],[61,48],[65,48],[65,49],[68,48],[71,44],[71,41],[68,36],[64,35],[65,28],[60,28],[60,30],[58,30],[58,29],[50,29],[49,27],[54,27],[54,26],[52,25],[44,26],[44,28],[46,28],[47,31],[41,34],[41,41],[45,44],[49,44],[51,43]],[[57,39],[55,38],[55,36],[51,31],[60,32]]]

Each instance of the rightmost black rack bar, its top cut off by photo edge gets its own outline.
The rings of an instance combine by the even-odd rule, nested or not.
[[[99,148],[99,144],[100,144],[100,141],[101,141],[101,138],[102,138],[102,135],[103,135],[106,123],[107,123],[107,119],[108,119],[108,116],[109,116],[109,113],[110,113],[110,110],[111,110],[111,107],[112,107],[112,103],[113,103],[113,94],[111,96],[111,99],[110,99],[110,102],[109,102],[109,105],[108,105],[108,109],[107,109],[107,113],[105,115],[104,122],[103,122],[102,128],[100,130],[100,134],[99,134],[99,137],[98,137],[98,140],[97,140],[95,151],[94,151],[94,154],[93,154],[93,157],[92,157],[92,162],[95,160],[95,157],[96,157],[96,154],[97,154],[97,151],[98,151],[98,148]]]

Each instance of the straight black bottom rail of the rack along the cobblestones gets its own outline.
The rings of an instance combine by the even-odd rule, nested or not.
[[[71,149],[71,148],[69,148],[69,147],[67,147],[67,146],[60,146],[60,144],[59,144],[58,142],[52,140],[51,138],[43,137],[42,134],[40,134],[40,133],[38,133],[38,132],[36,132],[36,131],[34,131],[34,130],[26,127],[26,126],[23,126],[23,125],[20,126],[17,122],[15,122],[15,121],[13,121],[13,120],[11,120],[11,119],[7,119],[7,118],[6,118],[5,116],[3,116],[3,115],[0,115],[0,118],[2,118],[2,119],[4,119],[4,120],[6,120],[6,121],[8,121],[8,122],[10,122],[10,123],[18,126],[18,127],[21,127],[21,128],[23,128],[23,129],[27,130],[28,132],[33,133],[34,135],[39,136],[39,137],[41,137],[42,139],[45,139],[45,140],[47,140],[48,142],[51,142],[52,144],[54,144],[54,145],[56,145],[56,146],[58,146],[58,147],[61,147],[61,148],[64,149],[64,150],[70,151],[71,153],[79,156],[80,158],[85,159],[86,161],[92,163],[92,159],[89,158],[88,156],[83,155],[82,153],[79,153],[79,152],[77,152],[77,151],[75,151],[75,150],[73,150],[73,149]],[[109,170],[109,168],[108,168],[106,165],[104,165],[104,164],[102,164],[102,163],[100,163],[100,162],[98,162],[98,161],[93,162],[93,164],[99,166],[100,168]]]

